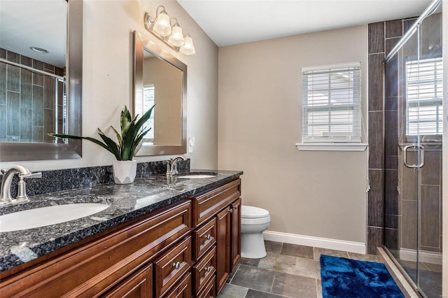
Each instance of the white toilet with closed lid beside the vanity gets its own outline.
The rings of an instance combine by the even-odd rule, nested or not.
[[[241,257],[260,259],[266,256],[262,233],[269,227],[269,222],[269,211],[253,206],[241,206]]]

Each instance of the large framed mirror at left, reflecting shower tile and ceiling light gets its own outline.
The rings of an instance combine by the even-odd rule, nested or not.
[[[83,0],[2,1],[0,162],[80,158]]]

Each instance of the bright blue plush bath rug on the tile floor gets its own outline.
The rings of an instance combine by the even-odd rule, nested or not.
[[[321,255],[323,298],[405,298],[384,264]]]

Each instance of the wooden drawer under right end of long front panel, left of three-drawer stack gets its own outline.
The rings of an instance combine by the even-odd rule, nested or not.
[[[181,241],[174,248],[154,262],[155,297],[162,295],[178,282],[191,267],[191,237]]]

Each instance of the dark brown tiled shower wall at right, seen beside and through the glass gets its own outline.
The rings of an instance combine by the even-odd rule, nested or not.
[[[431,17],[433,20],[430,22],[434,26],[440,25],[440,15],[438,17],[438,20],[437,15]],[[404,119],[404,115],[398,115],[398,105],[403,104],[399,96],[402,78],[399,78],[398,61],[393,58],[386,66],[384,80],[388,83],[384,90],[382,63],[415,20],[391,20],[368,25],[370,192],[367,253],[371,254],[375,254],[377,247],[384,243],[391,251],[416,248],[416,187],[406,185],[409,181],[416,181],[412,179],[416,173],[402,166],[401,150],[398,150],[398,121]],[[426,30],[433,31],[431,25],[426,26]],[[428,150],[425,161],[426,165],[421,170],[421,207],[426,211],[421,215],[421,248],[438,252],[442,234],[440,151]]]

